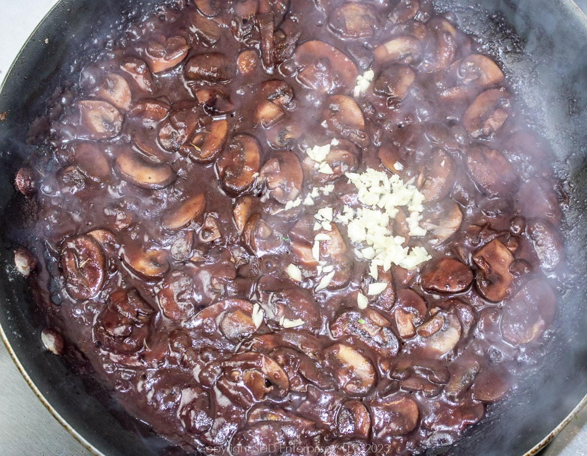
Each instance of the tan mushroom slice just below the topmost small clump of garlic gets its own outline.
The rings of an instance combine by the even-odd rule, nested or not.
[[[327,98],[322,118],[326,128],[343,135],[355,142],[359,147],[371,144],[365,132],[365,117],[357,102],[346,95],[332,95]]]

